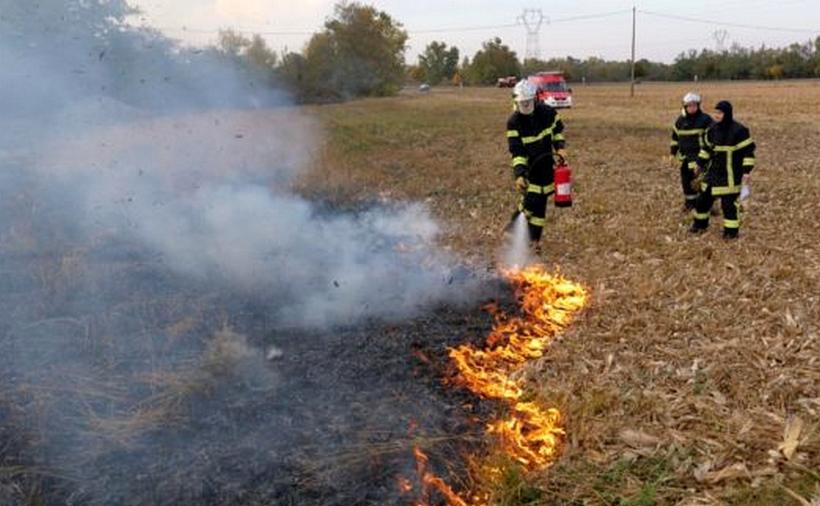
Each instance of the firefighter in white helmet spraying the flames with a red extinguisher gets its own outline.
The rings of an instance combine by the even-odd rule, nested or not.
[[[536,89],[524,80],[513,89],[514,112],[507,120],[507,141],[512,155],[515,188],[521,193],[513,222],[524,214],[530,245],[540,254],[547,198],[555,193],[553,169],[556,159],[566,161],[564,124],[552,107],[536,100]]]

